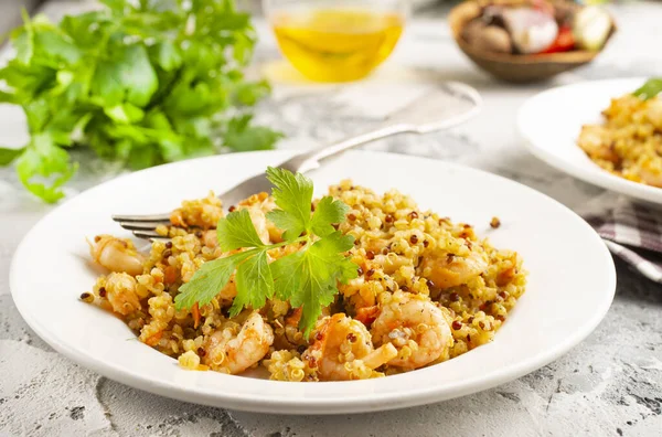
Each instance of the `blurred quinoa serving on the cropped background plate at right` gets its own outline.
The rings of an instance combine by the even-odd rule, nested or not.
[[[585,125],[577,145],[602,169],[662,188],[662,78],[611,99],[605,122]]]

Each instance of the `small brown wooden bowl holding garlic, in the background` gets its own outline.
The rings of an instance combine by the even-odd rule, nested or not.
[[[504,1],[499,1],[504,3]],[[522,1],[513,1],[514,4],[521,4]],[[450,11],[448,21],[452,35],[471,61],[491,75],[506,82],[527,83],[548,79],[559,73],[567,72],[578,66],[588,64],[600,52],[590,52],[574,50],[570,52],[548,53],[548,54],[510,54],[494,53],[483,50],[477,50],[471,46],[462,36],[462,30],[469,21],[481,14],[481,6],[474,1],[466,1],[458,4]],[[611,20],[611,32],[607,42],[616,32],[616,24]],[[607,44],[607,42],[605,44]],[[604,50],[602,46],[601,50]],[[600,50],[600,51],[601,51]]]

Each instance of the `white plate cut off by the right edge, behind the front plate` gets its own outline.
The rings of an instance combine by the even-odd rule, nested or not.
[[[662,189],[611,174],[577,146],[581,126],[601,122],[611,98],[632,93],[645,78],[584,82],[540,93],[524,103],[517,128],[537,158],[586,182],[662,205]]]

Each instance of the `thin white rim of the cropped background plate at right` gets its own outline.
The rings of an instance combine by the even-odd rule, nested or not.
[[[526,99],[520,108],[517,109],[516,116],[516,126],[517,132],[520,137],[524,140],[524,147],[528,150],[533,156],[535,156],[541,161],[549,164],[556,170],[569,174],[576,179],[579,179],[584,182],[590,183],[595,186],[602,188],[605,190],[613,191],[619,194],[623,194],[630,198],[634,198],[637,200],[651,202],[658,205],[662,205],[662,189],[644,185],[639,182],[630,181],[624,178],[620,178],[616,174],[609,173],[607,170],[601,169],[596,164],[595,172],[586,171],[581,166],[569,161],[563,157],[555,154],[554,152],[547,150],[544,147],[538,147],[536,141],[531,136],[531,130],[525,127],[525,118],[528,116],[525,114],[530,110],[531,106],[534,104],[538,104],[538,99],[543,99],[549,95],[558,93],[562,89],[568,88],[580,88],[585,85],[596,84],[618,84],[618,83],[628,83],[628,82],[644,82],[647,77],[620,77],[620,78],[610,78],[610,79],[598,79],[598,81],[584,81],[575,84],[555,86],[549,89],[545,89],[541,93],[537,93]],[[598,113],[599,115],[599,113]],[[576,143],[575,147],[578,148]],[[592,161],[591,161],[592,162]]]

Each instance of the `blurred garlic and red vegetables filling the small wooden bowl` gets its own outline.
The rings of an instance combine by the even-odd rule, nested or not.
[[[477,50],[543,55],[575,50],[599,51],[612,31],[599,7],[563,2],[494,2],[469,21],[462,38]]]

